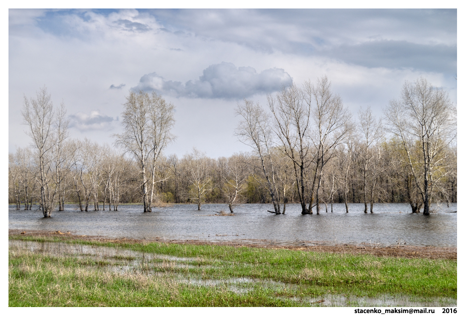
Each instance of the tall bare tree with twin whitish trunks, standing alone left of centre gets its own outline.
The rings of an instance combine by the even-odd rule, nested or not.
[[[130,92],[122,113],[124,131],[115,134],[116,144],[131,153],[140,166],[144,212],[152,211],[155,165],[163,148],[174,139],[174,105],[153,92]],[[148,169],[150,170],[148,176]]]

